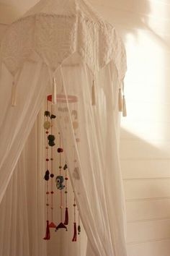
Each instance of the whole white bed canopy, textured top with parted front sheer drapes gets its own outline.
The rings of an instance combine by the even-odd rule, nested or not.
[[[126,56],[115,27],[85,0],[41,0],[9,26],[0,64],[0,202],[50,94],[88,237],[86,256],[125,256],[119,111],[125,114]]]

